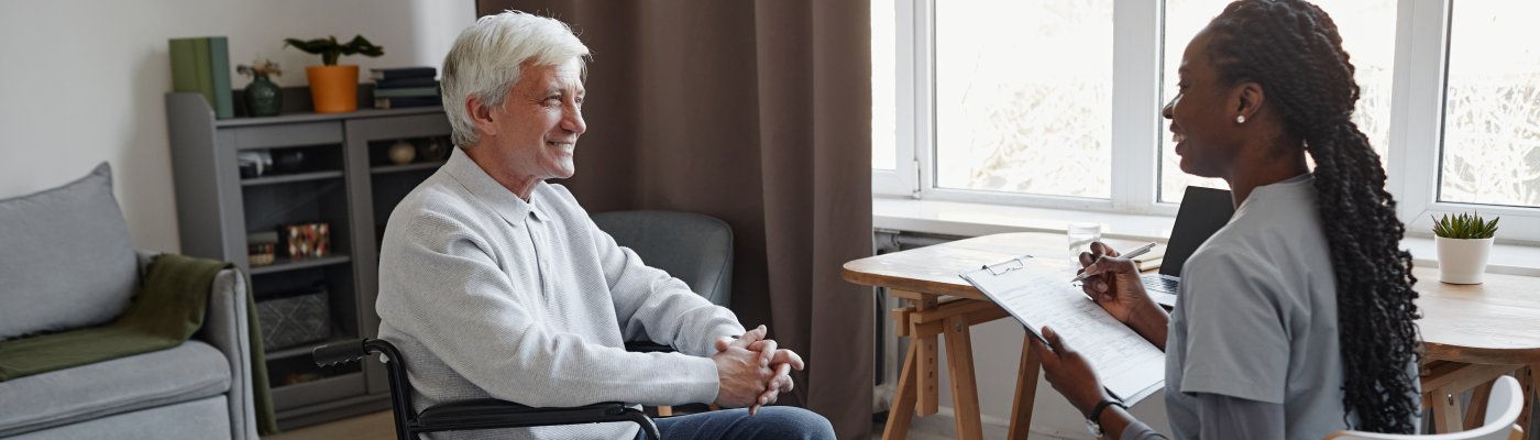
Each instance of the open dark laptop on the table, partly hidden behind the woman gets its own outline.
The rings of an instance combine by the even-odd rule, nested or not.
[[[1230,192],[1224,189],[1187,186],[1181,197],[1181,208],[1177,209],[1177,225],[1172,226],[1170,242],[1166,243],[1166,257],[1160,263],[1160,274],[1141,277],[1144,291],[1155,303],[1163,306],[1177,305],[1177,292],[1181,286],[1181,265],[1198,251],[1209,235],[1224,228],[1235,214]]]

